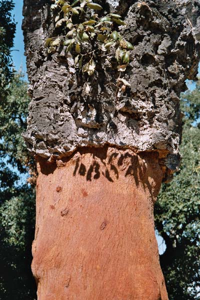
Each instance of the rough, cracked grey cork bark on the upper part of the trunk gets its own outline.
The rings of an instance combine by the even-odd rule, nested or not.
[[[63,51],[47,54],[44,40],[55,34],[49,0],[24,0],[23,32],[31,103],[24,138],[29,151],[60,159],[83,146],[104,144],[135,152],[159,152],[167,179],[179,162],[179,95],[195,79],[199,61],[200,7],[197,0],[98,0],[118,12],[120,31],[134,49],[124,73],[98,58],[97,74],[75,71]],[[117,78],[131,87],[119,93]]]

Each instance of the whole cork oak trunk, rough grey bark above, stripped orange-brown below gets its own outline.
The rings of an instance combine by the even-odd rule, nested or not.
[[[179,163],[179,94],[185,79],[196,75],[199,4],[96,2],[122,15],[127,25],[119,27],[121,34],[134,49],[123,74],[99,57],[86,92],[86,77],[72,58],[44,48],[56,30],[50,1],[24,0],[32,98],[24,138],[38,169],[32,246],[37,295],[166,300],[153,204],[161,181]],[[119,77],[131,87],[117,85]]]

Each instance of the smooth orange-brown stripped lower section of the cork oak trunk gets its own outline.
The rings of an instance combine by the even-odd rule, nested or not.
[[[85,148],[38,161],[38,300],[167,300],[154,235],[157,154]]]

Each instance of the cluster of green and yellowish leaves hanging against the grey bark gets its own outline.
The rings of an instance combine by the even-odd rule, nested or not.
[[[118,25],[125,25],[119,14],[102,15],[102,6],[91,0],[53,2],[51,11],[59,36],[46,39],[49,53],[55,52],[58,46],[65,47],[65,53],[74,57],[77,70],[89,76],[100,57],[115,58],[117,69],[125,70],[133,46],[117,30]]]

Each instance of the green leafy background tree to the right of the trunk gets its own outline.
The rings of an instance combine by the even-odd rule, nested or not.
[[[182,94],[185,112],[180,171],[162,185],[155,205],[155,225],[166,250],[160,255],[170,300],[200,299],[200,82]]]

